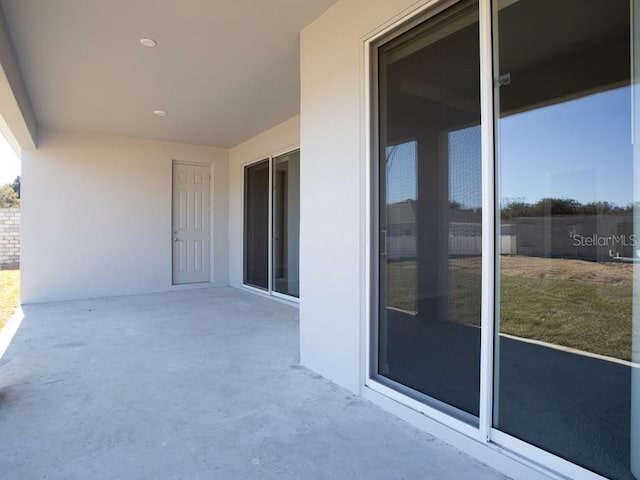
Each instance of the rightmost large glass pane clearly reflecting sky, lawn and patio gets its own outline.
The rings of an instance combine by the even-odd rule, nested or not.
[[[631,479],[629,2],[498,4],[494,424]]]

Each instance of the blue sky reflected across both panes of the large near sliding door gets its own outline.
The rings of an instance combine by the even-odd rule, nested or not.
[[[501,201],[633,199],[629,87],[505,117],[498,142]],[[389,147],[387,157],[387,202],[416,198],[416,143]],[[479,127],[449,134],[449,162],[451,198],[479,207]]]

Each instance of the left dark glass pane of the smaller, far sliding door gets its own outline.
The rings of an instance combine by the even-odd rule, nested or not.
[[[269,288],[269,161],[244,170],[244,283]]]

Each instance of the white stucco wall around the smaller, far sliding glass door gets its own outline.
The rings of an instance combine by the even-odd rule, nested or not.
[[[244,167],[300,143],[300,117],[293,117],[229,151],[229,284],[242,286]],[[301,167],[304,169],[304,167]]]

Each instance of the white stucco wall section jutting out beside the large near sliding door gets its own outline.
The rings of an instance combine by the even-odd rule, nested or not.
[[[412,0],[342,0],[301,34],[302,363],[360,392],[364,328],[364,38]]]

